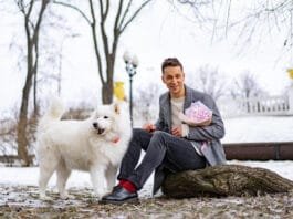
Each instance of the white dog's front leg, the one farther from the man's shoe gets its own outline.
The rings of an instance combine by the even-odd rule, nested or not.
[[[101,199],[107,192],[104,166],[93,166],[91,168],[91,179],[94,187],[94,191],[97,198]]]

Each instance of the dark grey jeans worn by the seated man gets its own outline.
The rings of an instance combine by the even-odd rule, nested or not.
[[[142,163],[140,152],[146,152]],[[206,158],[199,156],[192,144],[169,133],[156,131],[154,134],[134,128],[129,147],[121,164],[118,179],[132,181],[139,190],[157,167],[171,173],[206,167]]]

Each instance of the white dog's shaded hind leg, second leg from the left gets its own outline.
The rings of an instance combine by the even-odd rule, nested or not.
[[[70,177],[70,174],[71,174],[71,169],[69,169],[64,163],[64,160],[61,160],[57,165],[57,168],[56,168],[56,174],[57,174],[57,190],[59,190],[59,194],[60,194],[60,198],[61,199],[67,199],[70,198],[66,189],[65,189],[65,186],[66,186],[66,181]]]

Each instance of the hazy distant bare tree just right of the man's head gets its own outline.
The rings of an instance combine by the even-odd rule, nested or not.
[[[217,67],[205,65],[187,76],[190,86],[211,95],[216,101],[226,93],[224,76]]]

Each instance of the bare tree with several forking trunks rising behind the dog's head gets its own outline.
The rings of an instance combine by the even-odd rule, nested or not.
[[[117,6],[109,0],[87,0],[90,8],[87,12],[69,1],[54,0],[54,3],[79,12],[91,27],[104,104],[109,104],[113,101],[114,66],[121,35],[150,1],[142,1],[132,12],[133,0],[116,1]],[[114,19],[111,14],[114,14]],[[107,31],[108,29],[112,31]],[[105,62],[103,62],[104,60]]]

